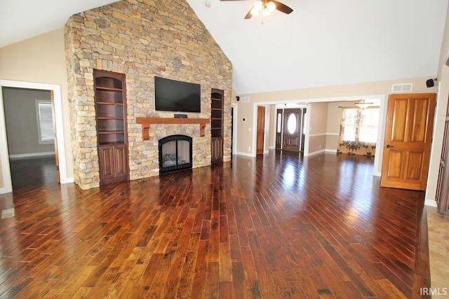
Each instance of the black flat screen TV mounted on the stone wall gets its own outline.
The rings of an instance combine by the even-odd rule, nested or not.
[[[154,77],[156,111],[201,112],[201,85]]]

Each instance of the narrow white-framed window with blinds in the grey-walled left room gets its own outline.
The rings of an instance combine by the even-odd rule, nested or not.
[[[51,113],[51,101],[36,99],[37,132],[39,144],[53,144],[53,116]]]

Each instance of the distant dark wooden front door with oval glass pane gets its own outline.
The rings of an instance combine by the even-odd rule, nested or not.
[[[286,151],[301,150],[302,110],[285,109],[283,112],[283,145]]]

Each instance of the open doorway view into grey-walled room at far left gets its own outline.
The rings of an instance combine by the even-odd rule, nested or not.
[[[2,88],[13,190],[59,183],[53,92]]]

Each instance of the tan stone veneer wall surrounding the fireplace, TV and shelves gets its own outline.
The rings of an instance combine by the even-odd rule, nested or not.
[[[154,111],[154,76],[201,84],[201,113],[210,118],[210,89],[225,90],[224,161],[231,158],[232,64],[183,0],[125,0],[73,15],[65,27],[74,180],[100,185],[93,69],[126,74],[130,179],[159,174],[158,140],[193,138],[193,167],[210,165],[210,125],[152,125],[142,141],[138,117],[173,118]]]

